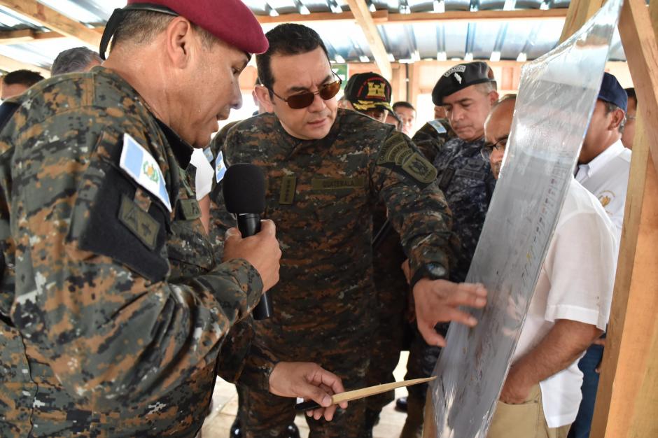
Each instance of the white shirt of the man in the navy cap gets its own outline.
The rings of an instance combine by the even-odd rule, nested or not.
[[[612,143],[587,164],[580,164],[576,181],[598,198],[617,227],[617,239],[621,239],[624,223],[626,191],[631,173],[631,150],[624,148],[622,141]]]

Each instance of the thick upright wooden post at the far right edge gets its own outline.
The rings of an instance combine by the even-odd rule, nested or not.
[[[638,95],[631,177],[591,437],[658,435],[658,13],[626,0],[619,34]],[[647,47],[640,45],[646,44]],[[651,385],[650,388],[645,388]]]

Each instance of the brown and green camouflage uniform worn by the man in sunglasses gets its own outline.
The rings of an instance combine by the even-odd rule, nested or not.
[[[216,156],[222,149],[227,165],[251,162],[265,171],[263,216],[276,223],[283,252],[281,281],[271,291],[274,316],[254,323],[254,344],[278,360],[316,360],[341,376],[347,389],[364,386],[376,306],[374,205],[386,204],[414,276],[445,278],[456,243],[449,210],[433,183],[434,168],[391,125],[345,110],[321,140],[295,139],[275,115],[262,114],[230,129],[223,148],[212,147]],[[210,233],[219,242],[235,223],[225,211],[221,182],[211,192],[211,216]],[[257,391],[240,383],[246,393]],[[274,397],[263,393],[250,400],[250,409],[240,413],[247,434],[276,436],[290,422],[289,402],[281,408],[288,416],[279,411],[274,425],[268,422]],[[362,409],[359,405],[348,411]],[[357,423],[337,418],[329,428],[336,436],[358,437],[360,418]],[[266,422],[269,432],[262,428]]]

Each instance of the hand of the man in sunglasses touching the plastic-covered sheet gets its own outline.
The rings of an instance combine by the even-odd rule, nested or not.
[[[476,325],[477,320],[458,307],[484,307],[486,289],[481,284],[423,278],[414,285],[414,301],[419,332],[428,344],[443,347],[445,339],[434,330],[434,326],[449,321],[469,327]]]

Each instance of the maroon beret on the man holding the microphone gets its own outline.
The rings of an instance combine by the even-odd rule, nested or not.
[[[240,0],[128,0],[128,6],[134,4],[165,6],[244,52],[269,47],[260,23]]]

